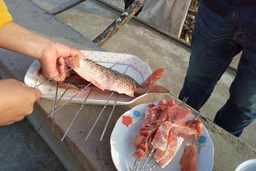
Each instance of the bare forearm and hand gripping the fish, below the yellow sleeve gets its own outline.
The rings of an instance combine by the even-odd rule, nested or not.
[[[66,71],[64,59],[70,56],[86,59],[78,49],[36,35],[14,22],[0,28],[0,47],[38,59],[44,76],[54,81],[63,81],[69,74],[53,77]]]

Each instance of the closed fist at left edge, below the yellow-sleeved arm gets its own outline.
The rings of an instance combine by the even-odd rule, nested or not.
[[[33,112],[41,92],[14,79],[0,80],[0,126],[22,120]]]

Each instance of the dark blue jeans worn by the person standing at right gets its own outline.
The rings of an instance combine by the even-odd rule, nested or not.
[[[238,16],[239,17],[239,16]],[[200,1],[192,34],[191,56],[179,99],[199,110],[233,57],[242,51],[230,97],[214,122],[239,137],[256,118],[256,34],[224,22]]]

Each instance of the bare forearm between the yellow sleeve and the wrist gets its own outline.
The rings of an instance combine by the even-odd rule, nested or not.
[[[50,39],[36,35],[14,22],[0,28],[0,47],[38,59]]]

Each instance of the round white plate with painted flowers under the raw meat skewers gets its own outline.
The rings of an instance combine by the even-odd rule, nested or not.
[[[135,157],[132,156],[135,151],[133,143],[135,136],[139,135],[139,129],[144,123],[143,115],[146,112],[147,108],[148,104],[140,104],[138,106],[135,106],[131,110],[125,112],[116,122],[114,130],[112,131],[110,137],[110,146],[112,160],[118,171],[132,171],[135,161]],[[130,116],[132,119],[132,124],[130,124],[128,128],[122,123],[123,116]],[[181,122],[191,120],[192,118],[194,118],[194,116],[190,114]],[[197,157],[198,169],[199,171],[211,171],[213,167],[214,146],[204,126],[202,126],[202,136],[199,139],[200,142],[202,142],[202,144],[204,145],[200,145],[200,153]],[[182,146],[180,147],[172,161],[166,167],[164,167],[164,169],[160,169],[160,167],[155,167],[154,171],[180,171],[180,157],[182,156],[186,144],[192,143],[192,140],[193,139],[190,137],[184,138]],[[152,164],[153,163],[154,162],[152,162]]]

